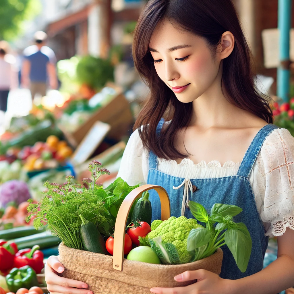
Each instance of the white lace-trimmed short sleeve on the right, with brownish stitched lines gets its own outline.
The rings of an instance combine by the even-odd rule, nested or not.
[[[265,173],[262,220],[270,223],[265,235],[294,230],[294,138],[287,129],[273,131],[261,148]]]

